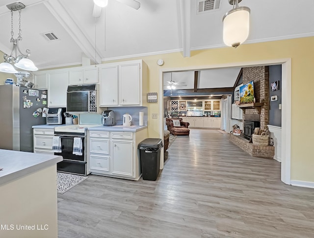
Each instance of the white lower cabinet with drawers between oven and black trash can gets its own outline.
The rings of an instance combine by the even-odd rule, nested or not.
[[[88,168],[95,175],[138,180],[141,164],[137,145],[147,138],[139,132],[88,131]]]

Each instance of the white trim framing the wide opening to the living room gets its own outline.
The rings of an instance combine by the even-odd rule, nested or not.
[[[163,73],[183,70],[204,70],[228,67],[254,67],[265,65],[282,65],[282,162],[281,181],[290,185],[291,180],[291,58],[270,59],[250,62],[234,62],[217,65],[188,66],[181,68],[159,69],[159,115],[163,115]],[[163,138],[163,117],[159,117],[159,136]],[[160,169],[163,168],[163,153],[160,153]]]

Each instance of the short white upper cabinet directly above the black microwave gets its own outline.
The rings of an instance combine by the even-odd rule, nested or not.
[[[70,85],[98,83],[98,68],[88,66],[87,68],[74,68],[70,70]]]

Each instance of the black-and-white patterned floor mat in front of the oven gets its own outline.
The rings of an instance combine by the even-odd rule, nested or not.
[[[57,172],[57,193],[63,194],[87,178],[87,176]]]

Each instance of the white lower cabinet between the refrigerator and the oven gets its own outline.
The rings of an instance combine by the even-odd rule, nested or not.
[[[52,139],[54,129],[33,129],[33,149],[34,153],[50,154],[52,152]]]

